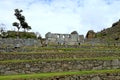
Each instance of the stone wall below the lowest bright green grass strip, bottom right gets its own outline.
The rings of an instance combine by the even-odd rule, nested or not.
[[[67,76],[58,76],[58,77],[46,78],[46,79],[35,79],[35,80],[120,80],[120,73],[67,75]]]

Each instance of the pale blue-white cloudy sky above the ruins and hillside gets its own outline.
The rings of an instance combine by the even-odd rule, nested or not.
[[[0,24],[6,29],[18,21],[14,9],[22,9],[31,31],[86,34],[111,27],[120,19],[120,0],[0,0]]]

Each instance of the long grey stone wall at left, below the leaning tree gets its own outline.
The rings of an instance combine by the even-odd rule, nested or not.
[[[37,39],[12,39],[12,38],[0,38],[0,47],[16,47],[16,46],[41,46],[41,43]]]

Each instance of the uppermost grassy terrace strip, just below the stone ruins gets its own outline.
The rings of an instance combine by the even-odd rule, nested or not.
[[[27,49],[26,49],[27,50]],[[89,53],[89,54],[99,54],[99,53],[120,53],[120,49],[81,49],[81,48],[61,48],[61,49],[35,49],[31,48],[30,52],[4,52],[0,54],[67,54],[67,53]]]

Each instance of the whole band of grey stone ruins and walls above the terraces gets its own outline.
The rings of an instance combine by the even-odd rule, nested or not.
[[[27,46],[41,47],[47,45],[102,45],[102,46],[120,46],[120,42],[108,42],[102,39],[95,38],[94,31],[90,30],[86,38],[83,35],[79,35],[77,32],[73,31],[71,34],[59,34],[48,32],[45,38],[41,39],[13,39],[13,38],[0,38],[0,52],[10,52],[14,51],[15,48],[23,48]],[[21,50],[22,51],[22,50]]]

